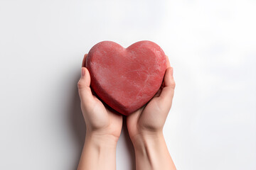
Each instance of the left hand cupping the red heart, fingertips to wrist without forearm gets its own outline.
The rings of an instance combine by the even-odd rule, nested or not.
[[[82,115],[87,128],[86,135],[102,135],[118,140],[122,130],[122,115],[103,104],[90,89],[90,73],[85,68],[85,55],[82,60],[81,78],[78,91],[81,100]]]

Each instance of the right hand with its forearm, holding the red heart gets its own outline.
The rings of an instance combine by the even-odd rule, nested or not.
[[[164,82],[154,98],[127,116],[127,129],[134,145],[136,169],[176,170],[164,140],[163,128],[171,109],[175,82],[166,57]]]

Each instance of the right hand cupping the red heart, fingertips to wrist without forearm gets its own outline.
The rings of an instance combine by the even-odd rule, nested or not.
[[[162,133],[166,117],[171,109],[175,89],[173,68],[170,66],[167,56],[166,60],[164,82],[159,91],[149,103],[127,116],[127,129],[132,142],[138,137],[137,135],[159,135]]]

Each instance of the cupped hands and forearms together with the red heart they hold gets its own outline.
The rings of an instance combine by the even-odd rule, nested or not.
[[[92,157],[88,155],[90,149],[85,151],[86,146],[100,139],[98,149],[115,148],[123,115],[126,115],[136,159],[142,159],[137,162],[137,169],[150,169],[155,163],[163,166],[162,169],[175,169],[162,133],[174,96],[173,72],[168,57],[154,42],[141,41],[123,48],[115,42],[104,41],[92,47],[82,61],[78,81],[87,128],[78,169],[99,168],[99,164],[97,167],[90,164]],[[100,146],[102,142],[105,147]],[[151,148],[155,156],[145,155],[147,145],[155,146]],[[109,159],[115,160],[115,152],[113,154]],[[150,157],[156,160],[152,162]],[[167,161],[163,162],[161,157]],[[103,161],[101,168],[105,169],[103,164],[108,164],[109,169],[114,169],[114,163]]]

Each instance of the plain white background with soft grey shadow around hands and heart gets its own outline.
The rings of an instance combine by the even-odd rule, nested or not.
[[[256,169],[256,1],[0,1],[0,169],[76,169],[77,82],[95,43],[159,44],[176,93],[164,127],[179,170]],[[134,169],[126,130],[117,169]]]

